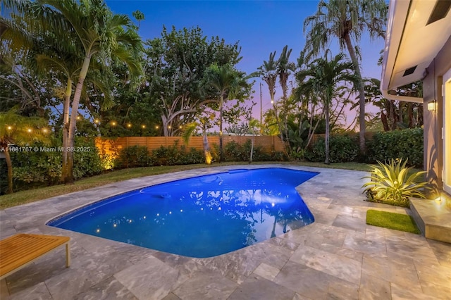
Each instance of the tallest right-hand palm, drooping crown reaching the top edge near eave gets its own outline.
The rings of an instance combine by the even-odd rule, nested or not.
[[[307,32],[305,48],[311,56],[318,56],[320,51],[329,46],[330,37],[340,41],[340,49],[346,48],[354,64],[359,90],[359,146],[365,153],[365,91],[360,72],[359,47],[352,40],[359,42],[364,30],[371,38],[385,38],[385,21],[388,7],[384,0],[320,0],[318,11],[304,20],[304,33]]]

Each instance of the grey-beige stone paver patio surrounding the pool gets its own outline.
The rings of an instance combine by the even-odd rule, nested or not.
[[[366,173],[357,171],[290,167],[320,172],[297,188],[315,222],[214,258],[187,258],[44,225],[106,196],[232,168],[143,177],[0,211],[1,238],[16,232],[72,237],[70,268],[64,267],[63,249],[54,251],[1,280],[0,298],[451,299],[451,244],[366,225],[369,208],[407,211],[363,201]]]

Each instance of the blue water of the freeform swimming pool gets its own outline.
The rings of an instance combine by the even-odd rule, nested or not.
[[[47,225],[183,256],[226,254],[309,225],[295,187],[318,173],[230,170],[145,187]]]

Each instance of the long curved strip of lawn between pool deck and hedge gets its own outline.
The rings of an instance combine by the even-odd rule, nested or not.
[[[267,164],[269,162],[252,163],[255,164]],[[335,169],[346,169],[346,170],[359,170],[359,171],[369,171],[370,168],[364,163],[331,163],[330,165],[325,165],[324,163],[309,163],[309,162],[277,162],[280,164],[287,165],[306,165],[310,167],[318,168],[335,168]],[[247,165],[248,163],[214,163],[211,165],[171,165],[162,167],[148,167],[148,168],[131,168],[123,170],[115,170],[113,172],[104,173],[101,175],[85,178],[78,180],[73,185],[54,185],[51,187],[39,187],[37,189],[28,189],[25,191],[16,192],[13,194],[0,196],[0,209],[18,206],[21,204],[27,204],[30,202],[47,199],[53,196],[58,196],[62,194],[68,194],[71,192],[78,192],[85,189],[90,189],[92,187],[99,187],[101,185],[107,185],[109,183],[118,182],[122,180],[128,180],[137,177],[158,175],[163,173],[171,173],[183,170],[192,170],[195,168],[212,168],[218,167],[220,165]]]

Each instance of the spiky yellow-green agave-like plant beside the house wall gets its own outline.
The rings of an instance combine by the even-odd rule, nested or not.
[[[371,165],[371,175],[364,177],[371,180],[362,186],[366,188],[364,193],[376,201],[398,206],[408,206],[409,197],[426,198],[423,189],[429,189],[428,182],[419,180],[426,172],[408,175],[412,167],[406,168],[406,164],[407,159],[404,163],[402,159],[390,159],[388,163],[378,161],[378,165]]]

